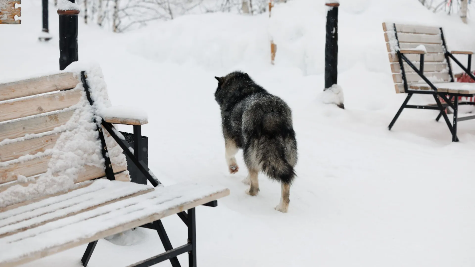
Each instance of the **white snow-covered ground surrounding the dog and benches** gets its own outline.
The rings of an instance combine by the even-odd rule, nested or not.
[[[39,0],[23,1],[22,24],[0,26],[0,80],[58,68],[54,37],[39,43]],[[322,105],[323,1],[292,0],[256,17],[181,17],[126,34],[79,25],[79,58],[101,64],[114,105],[149,114],[149,167],[165,184],[220,184],[231,195],[218,208],[197,208],[199,266],[474,266],[475,124],[459,124],[451,143],[435,111],[404,111],[396,95],[381,22],[425,22],[446,29],[451,49],[475,50],[475,25],[435,15],[417,0],[341,0],[339,84],[345,110]],[[271,66],[269,38],[277,44]],[[465,59],[464,59],[465,62]],[[294,111],[298,178],[287,214],[280,186],[260,178],[244,193],[241,170],[227,173],[214,76],[242,69]],[[423,98],[416,102],[424,103]],[[132,130],[127,127],[121,130]],[[172,244],[186,242],[177,216],[164,219]],[[100,240],[90,267],[127,266],[163,251],[158,235],[139,229],[132,246]],[[85,246],[25,267],[79,267]],[[181,256],[182,266],[187,266]],[[170,266],[168,262],[158,266]]]

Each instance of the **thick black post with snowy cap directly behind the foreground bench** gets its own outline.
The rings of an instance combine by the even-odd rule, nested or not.
[[[74,3],[75,0],[69,0]],[[59,17],[59,70],[78,60],[77,15],[79,10],[58,10]]]

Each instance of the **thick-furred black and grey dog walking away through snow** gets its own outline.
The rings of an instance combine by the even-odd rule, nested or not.
[[[257,195],[257,175],[262,171],[281,182],[282,196],[276,210],[287,212],[297,163],[292,111],[282,99],[254,83],[247,73],[236,71],[215,78],[218,88],[214,96],[221,109],[229,172],[239,170],[234,156],[242,148],[249,171],[243,181],[250,184],[246,193]]]

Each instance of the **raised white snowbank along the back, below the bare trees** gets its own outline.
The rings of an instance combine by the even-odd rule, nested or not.
[[[475,49],[475,23],[434,14],[417,0],[341,0],[339,72],[362,64],[390,73],[381,23],[394,21],[441,26],[450,49]],[[262,71],[270,65],[270,40],[277,44],[276,66],[298,68],[302,75],[324,71],[324,0],[289,0],[259,16],[229,13],[184,16],[154,23],[129,51],[158,62],[192,64],[210,70]],[[465,60],[464,60],[465,62]]]

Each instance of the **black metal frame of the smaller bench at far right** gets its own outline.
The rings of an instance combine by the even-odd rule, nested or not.
[[[399,47],[399,39],[398,39],[398,32],[396,30],[396,24],[393,24],[394,27],[394,34],[396,37],[396,41],[398,42],[398,47]],[[442,47],[445,50],[445,58],[447,61],[447,66],[448,66],[448,72],[450,75],[450,82],[454,82],[454,75],[452,73],[452,67],[450,66],[450,58],[452,58],[455,63],[462,68],[462,70],[470,76],[472,79],[475,80],[475,76],[470,72],[470,65],[472,64],[472,55],[468,54],[468,62],[467,62],[467,68],[463,66],[462,63],[460,63],[452,53],[450,53],[447,49],[445,38],[444,38],[444,31],[442,28],[440,29],[440,36],[442,38]],[[401,69],[401,75],[402,75],[402,80],[404,83],[404,92],[408,93],[408,96],[406,97],[406,100],[402,103],[401,107],[399,108],[398,112],[392,119],[391,123],[389,124],[388,128],[391,130],[392,126],[394,123],[396,123],[396,120],[398,119],[399,115],[401,114],[402,110],[405,108],[417,108],[417,109],[430,109],[430,110],[439,110],[440,113],[438,114],[436,121],[439,121],[440,117],[444,117],[445,122],[447,123],[447,126],[450,130],[450,133],[452,134],[452,142],[458,142],[458,137],[457,137],[457,123],[460,121],[466,121],[466,120],[471,120],[475,119],[475,115],[472,116],[465,116],[465,117],[458,117],[458,106],[459,105],[475,105],[475,102],[462,102],[459,103],[459,97],[460,96],[466,96],[466,97],[472,97],[475,96],[475,94],[456,94],[456,93],[449,93],[449,92],[438,92],[437,87],[432,84],[426,76],[424,76],[424,54],[420,54],[420,65],[419,69],[412,64],[412,62],[399,50],[396,51],[399,59],[399,67]],[[408,82],[406,79],[406,72],[404,70],[404,64],[403,62],[406,62],[409,67],[411,67],[431,88],[432,90],[411,90],[408,86]],[[434,99],[436,101],[437,106],[434,105],[408,105],[409,99],[412,97],[414,94],[425,94],[425,95],[433,95]],[[442,98],[446,103],[442,104],[439,100],[439,97]],[[452,124],[450,123],[450,120],[447,116],[446,113],[446,108],[451,107],[454,110],[454,119]]]

